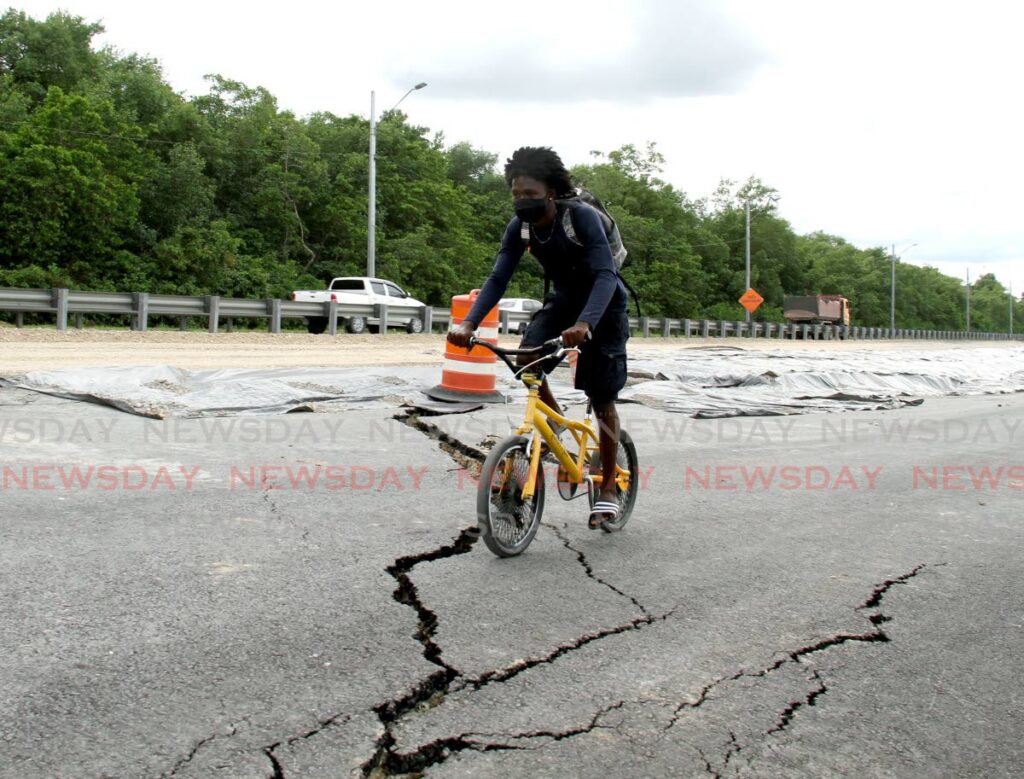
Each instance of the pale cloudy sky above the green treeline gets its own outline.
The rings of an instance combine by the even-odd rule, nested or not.
[[[756,175],[801,232],[1024,293],[1024,6],[1000,0],[23,0],[101,21],[173,87],[217,73],[304,116],[402,103],[507,157],[655,141],[690,197]],[[911,246],[916,245],[916,246]]]

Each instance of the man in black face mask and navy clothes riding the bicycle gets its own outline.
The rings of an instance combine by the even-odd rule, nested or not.
[[[468,347],[477,326],[501,300],[528,249],[544,267],[552,291],[530,318],[520,348],[562,337],[566,347],[579,347],[575,387],[590,398],[599,425],[601,491],[590,515],[590,527],[613,520],[618,413],[615,400],[626,384],[626,341],[630,336],[626,288],[612,260],[608,239],[597,211],[574,194],[569,173],[550,148],[523,146],[506,161],[505,181],[512,190],[516,215],[502,237],[495,267],[462,323],[449,341]],[[566,234],[566,209],[575,241]],[[588,340],[588,336],[590,339]],[[530,358],[520,356],[518,364]],[[541,399],[561,414],[545,380]]]

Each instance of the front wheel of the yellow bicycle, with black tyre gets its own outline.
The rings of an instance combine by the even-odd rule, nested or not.
[[[483,461],[476,491],[476,517],[487,549],[499,557],[521,554],[537,535],[544,513],[544,469],[538,469],[530,497],[522,490],[529,478],[529,439],[510,436],[495,444]]]

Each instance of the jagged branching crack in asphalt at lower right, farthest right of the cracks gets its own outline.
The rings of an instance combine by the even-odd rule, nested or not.
[[[945,565],[945,563],[934,563],[932,564],[931,567],[938,567],[942,565]],[[867,600],[865,600],[861,605],[857,606],[854,609],[854,611],[857,612],[872,610],[872,613],[866,614],[865,616],[866,619],[871,623],[871,625],[873,625],[873,630],[859,634],[838,633],[826,639],[822,639],[821,641],[815,642],[814,644],[809,644],[807,646],[787,652],[783,657],[765,666],[764,668],[761,668],[760,670],[756,672],[739,670],[736,674],[733,674],[728,677],[719,677],[713,682],[705,685],[705,687],[700,689],[694,700],[686,701],[679,704],[679,706],[677,706],[675,711],[673,712],[672,720],[665,727],[665,730],[668,731],[669,729],[674,727],[676,723],[679,722],[679,720],[682,718],[683,716],[682,712],[685,709],[699,708],[703,703],[706,703],[709,700],[709,698],[711,698],[712,692],[720,685],[728,684],[729,682],[735,682],[743,678],[764,678],[769,674],[778,670],[783,665],[786,665],[788,663],[799,664],[803,662],[803,658],[807,657],[810,654],[823,652],[825,650],[831,649],[833,647],[842,646],[844,644],[854,643],[854,642],[861,642],[861,643],[890,642],[892,639],[889,638],[889,636],[881,627],[881,625],[884,624],[885,622],[890,621],[891,617],[886,616],[878,609],[882,606],[883,599],[886,597],[886,595],[892,588],[896,587],[897,585],[906,583],[911,578],[921,573],[923,570],[925,570],[925,568],[927,567],[929,567],[929,565],[921,563],[914,566],[908,572],[900,576],[886,579],[881,585],[876,586],[874,589],[871,591],[871,595],[867,598]],[[816,669],[813,670],[811,673],[811,676],[808,677],[808,681],[816,683],[814,689],[810,690],[804,696],[803,699],[790,701],[786,704],[786,706],[781,711],[778,712],[777,722],[771,728],[759,734],[756,737],[756,739],[750,741],[746,745],[756,743],[758,741],[764,740],[765,738],[769,738],[775,735],[776,733],[781,733],[785,731],[792,725],[798,711],[800,711],[802,708],[808,708],[816,705],[817,699],[822,695],[828,693],[828,686],[825,684],[825,681],[821,678],[821,675],[819,674],[818,670]],[[717,771],[715,770],[711,761],[708,760],[706,753],[701,749],[697,748],[697,753],[703,761],[708,773],[711,776],[715,777],[716,779],[721,779],[721,772],[726,771],[732,759],[744,748],[744,744],[739,743],[739,740],[736,738],[734,732],[729,731],[729,737],[730,737],[728,745],[729,748],[726,749],[725,753],[722,755],[721,767]]]

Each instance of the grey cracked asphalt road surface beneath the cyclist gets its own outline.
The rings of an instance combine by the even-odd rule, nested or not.
[[[0,390],[26,423],[0,434],[0,776],[1019,775],[1020,395],[728,425],[626,405],[626,530],[550,489],[499,560],[459,463],[506,414],[167,435]],[[948,420],[977,434],[885,432]],[[72,465],[127,481],[69,487]],[[136,486],[162,467],[174,489]]]

